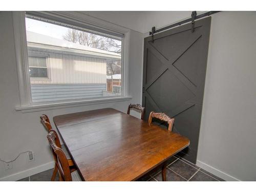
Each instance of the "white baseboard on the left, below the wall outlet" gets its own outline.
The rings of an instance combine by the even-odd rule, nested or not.
[[[27,170],[24,170],[22,172],[18,172],[16,174],[13,175],[9,175],[6,177],[2,177],[0,178],[0,181],[17,181],[35,174],[38,174],[40,172],[44,172],[45,170],[51,169],[54,167],[54,161],[51,161],[49,163],[37,166],[37,167],[33,167]]]

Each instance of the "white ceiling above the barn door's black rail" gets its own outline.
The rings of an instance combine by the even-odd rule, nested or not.
[[[147,33],[155,26],[160,28],[191,17],[191,11],[82,11],[113,24]],[[205,11],[197,11],[198,14]]]

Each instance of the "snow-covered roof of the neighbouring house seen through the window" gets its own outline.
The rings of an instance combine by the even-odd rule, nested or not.
[[[121,55],[101,49],[91,48],[67,40],[27,31],[28,47],[66,51],[69,53],[86,54],[89,56],[121,59]]]

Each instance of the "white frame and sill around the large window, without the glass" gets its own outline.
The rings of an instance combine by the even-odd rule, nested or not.
[[[28,65],[28,48],[26,37],[25,25],[25,12],[13,12],[13,32],[14,44],[16,53],[17,77],[19,86],[20,103],[15,107],[16,111],[34,112],[44,111],[49,109],[66,108],[73,106],[99,104],[108,102],[117,102],[130,100],[132,97],[129,95],[129,55],[130,55],[130,30],[116,26],[114,24],[104,22],[101,19],[88,16],[82,12],[35,12],[47,15],[48,17],[58,17],[66,19],[70,22],[81,23],[84,25],[91,25],[98,29],[110,30],[124,34],[122,38],[122,96],[97,98],[97,99],[84,99],[84,100],[69,100],[54,103],[33,103],[31,96],[31,85],[29,65]]]

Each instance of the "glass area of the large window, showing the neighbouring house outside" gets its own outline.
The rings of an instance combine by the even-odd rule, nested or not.
[[[35,14],[25,16],[29,105],[127,95],[123,33]]]

